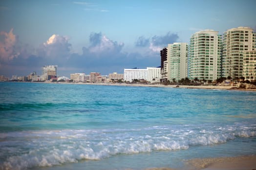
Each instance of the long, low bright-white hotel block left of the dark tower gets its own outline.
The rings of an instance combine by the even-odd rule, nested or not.
[[[147,69],[126,69],[124,70],[124,80],[132,82],[133,80],[146,80],[149,82],[159,81],[161,78],[161,68]]]

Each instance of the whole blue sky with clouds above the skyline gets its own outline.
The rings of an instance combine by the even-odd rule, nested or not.
[[[160,50],[198,31],[256,32],[256,0],[0,0],[0,75],[160,66]]]

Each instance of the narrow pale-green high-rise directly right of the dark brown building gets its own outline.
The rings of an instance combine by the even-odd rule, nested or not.
[[[175,81],[188,77],[188,44],[168,44],[167,55],[168,80]]]

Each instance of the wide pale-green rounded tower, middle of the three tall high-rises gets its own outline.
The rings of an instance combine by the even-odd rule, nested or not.
[[[189,78],[214,81],[221,75],[221,35],[205,30],[192,34],[189,47]]]

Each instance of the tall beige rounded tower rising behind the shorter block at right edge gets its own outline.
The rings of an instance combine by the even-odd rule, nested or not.
[[[244,51],[256,50],[256,33],[249,27],[232,28],[223,34],[222,72],[224,77],[243,76]]]

